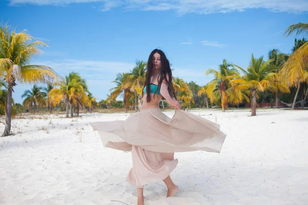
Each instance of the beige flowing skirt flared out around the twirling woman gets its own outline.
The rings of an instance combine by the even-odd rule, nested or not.
[[[126,120],[91,122],[104,147],[131,151],[127,180],[137,187],[165,179],[177,166],[175,152],[219,153],[226,135],[220,126],[198,115],[176,110],[169,118],[159,108],[143,109]]]

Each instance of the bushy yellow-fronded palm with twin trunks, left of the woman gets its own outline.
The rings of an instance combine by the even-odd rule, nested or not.
[[[75,78],[73,76],[75,76]],[[77,75],[70,73],[68,76],[65,76],[65,80],[59,83],[60,88],[53,88],[49,92],[53,106],[60,104],[62,100],[65,101],[66,117],[68,117],[69,104],[71,104],[72,109],[72,104],[78,103],[83,105],[88,99],[79,77],[76,76]],[[73,116],[72,110],[71,116]]]

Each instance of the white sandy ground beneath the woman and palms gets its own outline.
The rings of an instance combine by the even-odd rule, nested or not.
[[[164,183],[151,183],[145,204],[308,204],[308,111],[192,113],[221,125],[222,152],[176,153],[179,193],[166,198]],[[0,204],[136,204],[130,153],[104,148],[89,125],[127,116],[12,120],[20,134],[0,138]]]

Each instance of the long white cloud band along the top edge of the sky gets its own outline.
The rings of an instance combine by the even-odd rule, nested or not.
[[[102,11],[121,7],[124,10],[173,10],[179,14],[185,13],[227,13],[245,11],[247,9],[268,9],[273,12],[301,13],[308,11],[306,0],[9,0],[10,5],[67,5],[72,3],[101,2]]]

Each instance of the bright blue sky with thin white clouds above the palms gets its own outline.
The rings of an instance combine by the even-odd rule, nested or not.
[[[118,72],[136,59],[162,49],[174,76],[205,85],[226,58],[246,68],[253,53],[267,59],[269,50],[290,53],[295,36],[283,30],[308,22],[307,0],[9,0],[1,1],[2,22],[26,29],[43,40],[33,64],[50,66],[62,76],[79,72],[90,92],[106,98]],[[302,36],[298,36],[302,37]],[[16,103],[30,85],[17,86]]]

